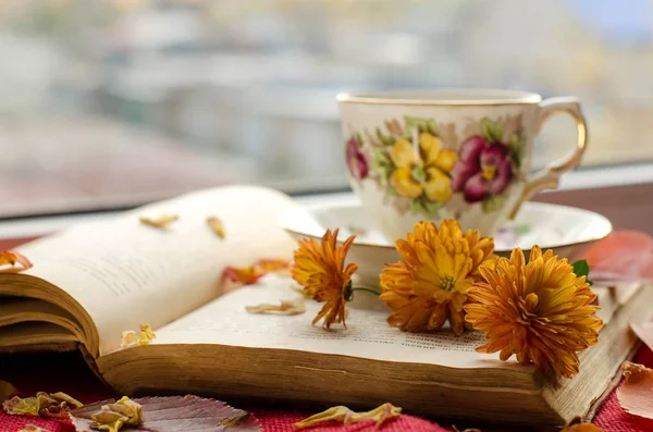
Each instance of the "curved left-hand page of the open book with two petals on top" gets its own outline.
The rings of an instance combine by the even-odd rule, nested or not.
[[[189,194],[130,211],[109,222],[75,227],[20,250],[27,273],[61,287],[94,319],[100,353],[116,349],[125,330],[153,329],[205,305],[218,294],[226,266],[288,258],[295,243],[278,217],[296,206],[274,190],[230,186]],[[160,230],[139,217],[176,214]],[[207,218],[219,218],[220,238]]]

